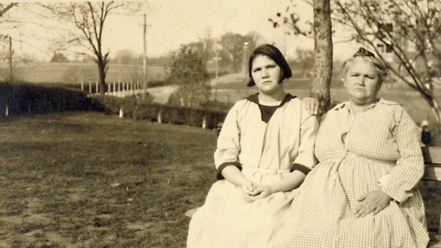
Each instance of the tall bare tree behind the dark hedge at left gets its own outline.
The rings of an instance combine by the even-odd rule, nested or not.
[[[81,47],[78,52],[92,59],[98,65],[100,94],[106,91],[105,77],[108,70],[109,52],[103,51],[103,30],[106,18],[116,9],[124,6],[124,2],[71,2],[46,5],[60,20],[75,26],[76,32],[68,30],[68,39],[58,42],[60,46]],[[79,32],[78,32],[79,31]]]

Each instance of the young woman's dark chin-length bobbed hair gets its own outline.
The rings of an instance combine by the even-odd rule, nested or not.
[[[250,79],[247,84],[248,87],[256,85],[253,77],[251,76],[251,67],[253,66],[254,58],[259,55],[268,56],[269,58],[274,60],[274,62],[276,62],[276,64],[280,67],[279,83],[287,78],[290,78],[293,75],[293,73],[291,72],[291,68],[288,65],[288,62],[286,62],[286,59],[283,57],[280,50],[271,44],[264,44],[254,50],[254,52],[250,56],[250,60],[248,61],[248,74]]]

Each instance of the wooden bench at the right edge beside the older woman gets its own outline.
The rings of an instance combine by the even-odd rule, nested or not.
[[[441,248],[441,185],[439,184],[441,182],[441,147],[424,147],[423,156],[426,169],[421,182],[421,192],[430,234],[428,247]]]

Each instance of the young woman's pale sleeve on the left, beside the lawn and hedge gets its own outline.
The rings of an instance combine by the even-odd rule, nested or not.
[[[237,113],[239,106],[236,103],[228,112],[225,118],[219,137],[217,138],[217,148],[214,152],[214,164],[217,169],[217,179],[223,179],[220,173],[227,166],[236,166],[239,169],[240,163],[238,155],[240,151],[240,130],[237,126]]]

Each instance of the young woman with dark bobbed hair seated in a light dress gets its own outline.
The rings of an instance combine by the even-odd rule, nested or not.
[[[266,44],[249,60],[258,93],[229,111],[217,140],[219,181],[190,221],[187,247],[268,247],[283,223],[295,189],[315,166],[318,122],[286,94],[291,69]]]

